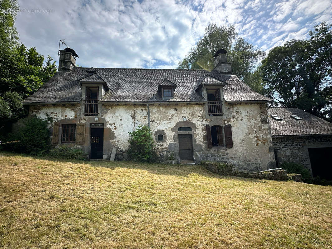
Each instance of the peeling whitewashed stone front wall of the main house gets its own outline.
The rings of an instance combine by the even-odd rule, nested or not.
[[[174,157],[179,160],[178,127],[189,126],[193,134],[194,160],[224,161],[236,165],[238,169],[255,171],[275,166],[272,139],[265,104],[225,104],[225,115],[216,119],[206,116],[205,105],[150,105],[150,128],[153,137],[163,134],[164,141],[157,142],[157,155],[162,160]],[[146,105],[103,105],[99,121],[104,123],[104,158],[107,158],[112,147],[120,153],[125,152],[128,143],[128,132],[139,125],[148,124]],[[86,123],[86,143],[81,147],[89,152],[89,123],[94,116],[82,116],[80,106],[31,106],[30,113],[46,119],[47,113],[54,120]],[[207,148],[206,124],[231,124],[233,147]],[[125,159],[121,156],[120,159]]]

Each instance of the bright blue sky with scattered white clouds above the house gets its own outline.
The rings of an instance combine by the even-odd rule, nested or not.
[[[58,61],[59,39],[94,67],[175,68],[209,23],[235,25],[268,51],[332,23],[332,0],[19,0],[16,27],[27,47]],[[62,47],[64,48],[64,47]],[[61,49],[61,48],[60,48]]]

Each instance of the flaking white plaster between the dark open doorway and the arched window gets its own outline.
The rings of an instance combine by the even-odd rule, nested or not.
[[[155,142],[158,150],[168,150],[168,145],[174,142],[173,131],[174,125],[182,121],[183,118],[192,120],[196,125],[204,125],[203,106],[185,105],[185,106],[157,106],[150,105],[150,128],[154,134],[157,130],[164,130],[167,140],[163,143]],[[103,118],[109,120],[109,127],[115,133],[115,140],[112,142],[115,147],[127,148],[128,132],[132,131],[139,125],[148,124],[146,106],[104,106]],[[200,141],[203,141],[203,134],[197,135]]]

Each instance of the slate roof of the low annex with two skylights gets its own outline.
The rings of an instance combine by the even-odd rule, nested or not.
[[[282,121],[271,118],[277,115]],[[290,115],[296,115],[302,120],[295,120]],[[332,124],[310,113],[295,107],[268,109],[269,124],[272,136],[298,136],[332,134]]]

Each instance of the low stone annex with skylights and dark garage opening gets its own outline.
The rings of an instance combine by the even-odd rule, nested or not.
[[[332,180],[332,124],[294,107],[268,110],[275,158]]]

